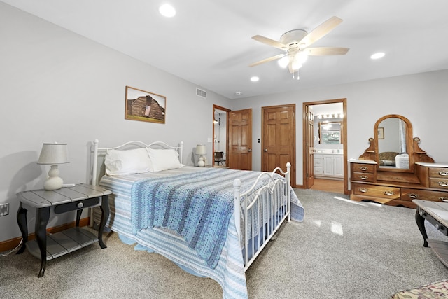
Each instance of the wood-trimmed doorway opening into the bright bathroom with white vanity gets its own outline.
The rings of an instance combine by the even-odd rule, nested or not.
[[[337,112],[335,108],[338,109]],[[337,130],[323,132],[323,124],[326,123],[338,123],[340,127]],[[325,185],[325,189],[328,189],[331,185],[336,186],[339,180],[339,187],[335,187],[334,192],[341,192],[340,183],[342,183],[344,194],[349,194],[346,128],[346,99],[303,103],[304,188],[316,189]],[[324,134],[321,134],[322,132]],[[321,156],[324,160],[319,161]],[[330,172],[334,173],[329,173],[328,170],[325,173],[322,171],[325,168],[332,169]]]

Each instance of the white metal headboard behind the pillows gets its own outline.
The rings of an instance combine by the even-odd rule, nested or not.
[[[120,146],[115,146],[111,148],[99,148],[99,140],[95,139],[93,141],[93,161],[92,161],[92,172],[90,177],[90,183],[92,185],[97,185],[99,179],[105,174],[104,167],[104,157],[106,155],[107,150],[115,149],[115,150],[127,150],[133,148],[172,148],[179,153],[179,162],[182,163],[183,157],[183,141],[179,144],[179,146],[170,146],[163,141],[155,141],[151,144],[146,144],[143,141],[128,141],[125,144],[121,144]]]

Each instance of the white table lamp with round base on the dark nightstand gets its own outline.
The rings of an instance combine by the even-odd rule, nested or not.
[[[48,179],[43,183],[45,190],[57,190],[62,188],[64,181],[59,177],[58,164],[68,163],[68,151],[66,144],[43,144],[41,155],[37,164],[51,165]]]

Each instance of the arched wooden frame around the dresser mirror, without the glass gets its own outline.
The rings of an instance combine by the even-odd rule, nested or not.
[[[409,155],[409,169],[404,168],[393,168],[393,167],[380,167],[379,165],[379,147],[378,147],[378,127],[379,124],[387,119],[387,118],[399,118],[400,120],[404,121],[406,124],[406,152]],[[377,120],[373,127],[373,136],[374,136],[374,146],[377,148],[377,151],[375,151],[375,161],[377,164],[377,171],[379,172],[411,172],[414,173],[414,146],[413,146],[413,138],[412,138],[412,124],[411,122],[405,118],[404,116],[400,116],[398,114],[388,114],[386,116],[383,116]]]

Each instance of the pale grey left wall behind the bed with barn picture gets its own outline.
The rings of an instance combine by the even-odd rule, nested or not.
[[[88,179],[90,145],[124,141],[184,141],[184,164],[193,165],[196,144],[211,142],[213,104],[228,99],[94,43],[50,22],[0,2],[0,203],[10,214],[0,217],[0,242],[20,236],[16,193],[42,188],[48,167],[36,161],[43,142],[69,146],[70,163],[61,165],[66,183]],[[167,97],[165,125],[125,120],[125,86]],[[34,231],[29,211],[29,231]],[[50,217],[48,227],[74,221],[75,214]]]

